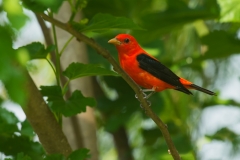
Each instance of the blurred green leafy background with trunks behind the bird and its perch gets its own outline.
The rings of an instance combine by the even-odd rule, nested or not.
[[[149,99],[182,159],[239,159],[238,0],[2,0],[0,17],[0,159],[172,159],[134,91],[98,54],[117,60],[107,41],[119,33],[217,92]]]

